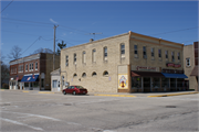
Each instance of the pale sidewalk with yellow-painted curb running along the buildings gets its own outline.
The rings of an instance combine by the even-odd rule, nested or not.
[[[9,89],[1,89],[1,91],[9,90]],[[10,91],[19,91],[19,92],[33,92],[33,94],[60,94],[61,91],[38,91],[38,90],[10,90]],[[191,94],[199,94],[198,91],[168,91],[168,92],[117,92],[117,94],[107,94],[107,92],[88,92],[88,96],[107,96],[107,97],[170,97],[170,96],[180,96],[180,95],[191,95]]]

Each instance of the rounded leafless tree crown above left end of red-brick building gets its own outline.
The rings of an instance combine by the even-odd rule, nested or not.
[[[22,48],[20,48],[18,45],[14,45],[8,55],[10,59],[18,59],[21,57]]]

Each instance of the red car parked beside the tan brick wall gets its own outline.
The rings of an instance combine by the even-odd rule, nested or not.
[[[63,95],[73,94],[73,95],[86,95],[87,89],[82,86],[69,86],[66,89],[62,90]]]

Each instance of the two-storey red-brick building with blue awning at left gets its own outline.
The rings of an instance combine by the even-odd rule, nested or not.
[[[60,56],[55,55],[55,69]],[[10,62],[10,89],[51,90],[53,54],[39,53]]]

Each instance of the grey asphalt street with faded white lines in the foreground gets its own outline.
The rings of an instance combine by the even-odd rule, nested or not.
[[[198,94],[104,97],[1,91],[1,131],[199,131]]]

